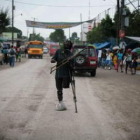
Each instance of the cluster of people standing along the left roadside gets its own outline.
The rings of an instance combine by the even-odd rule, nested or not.
[[[4,55],[3,61],[5,64],[9,64],[11,67],[15,66],[15,62],[21,62],[22,50],[20,47],[2,48],[1,52]]]

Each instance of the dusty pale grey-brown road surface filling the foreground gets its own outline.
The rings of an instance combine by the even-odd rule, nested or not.
[[[77,74],[66,111],[56,111],[50,57],[0,70],[0,140],[140,140],[140,75],[97,70]]]

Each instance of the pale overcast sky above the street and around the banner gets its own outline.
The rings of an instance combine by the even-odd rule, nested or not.
[[[105,10],[109,8],[109,14],[113,16],[116,0],[14,0],[14,5],[14,26],[22,30],[24,36],[29,36],[33,28],[26,26],[26,20],[35,18],[39,22],[86,21],[100,13],[100,18],[103,18]],[[9,16],[12,17],[12,0],[0,0],[0,8],[8,8]],[[44,38],[49,37],[52,32],[53,29],[35,28],[35,33],[40,33]],[[80,37],[81,25],[71,28],[70,32],[69,29],[64,29],[64,32],[67,38],[73,32],[77,32]]]

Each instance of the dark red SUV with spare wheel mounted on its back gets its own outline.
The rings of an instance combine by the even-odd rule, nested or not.
[[[96,75],[97,69],[97,53],[93,46],[74,45],[72,48],[73,54],[86,49],[74,58],[74,71],[78,73],[88,72],[91,76]]]

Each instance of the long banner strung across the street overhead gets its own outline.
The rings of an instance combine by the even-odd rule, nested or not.
[[[88,20],[84,22],[92,22],[93,20]],[[27,27],[35,28],[46,28],[46,29],[64,29],[78,26],[84,22],[37,22],[26,20]]]

